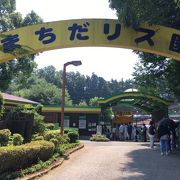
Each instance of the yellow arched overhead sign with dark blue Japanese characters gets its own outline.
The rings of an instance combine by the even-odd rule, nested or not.
[[[0,34],[0,62],[53,49],[119,47],[180,61],[180,31],[163,26],[126,28],[112,19],[77,19],[36,24]]]

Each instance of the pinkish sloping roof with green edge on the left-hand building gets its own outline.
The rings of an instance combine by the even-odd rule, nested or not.
[[[17,97],[7,93],[1,93],[5,103],[7,104],[39,104],[38,102],[31,101],[22,97]]]

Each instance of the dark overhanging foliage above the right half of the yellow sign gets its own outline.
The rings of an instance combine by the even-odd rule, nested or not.
[[[180,2],[177,0],[109,0],[125,26],[138,27],[141,23],[179,28]]]

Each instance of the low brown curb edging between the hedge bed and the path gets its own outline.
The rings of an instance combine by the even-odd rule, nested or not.
[[[60,166],[60,165],[63,163],[63,161],[64,161],[70,154],[76,152],[76,151],[79,150],[79,149],[82,149],[83,147],[84,147],[84,144],[80,144],[80,145],[78,145],[77,147],[66,151],[64,157],[59,158],[56,162],[54,162],[54,163],[53,163],[52,165],[50,165],[48,168],[43,169],[43,170],[41,170],[41,171],[39,171],[39,172],[30,174],[30,175],[27,175],[27,176],[22,177],[22,178],[20,178],[20,179],[21,179],[21,180],[32,180],[32,179],[35,179],[35,178],[37,178],[37,177],[41,177],[41,176],[43,176],[44,174],[47,174],[47,173],[48,173],[49,171],[51,171],[52,169]]]

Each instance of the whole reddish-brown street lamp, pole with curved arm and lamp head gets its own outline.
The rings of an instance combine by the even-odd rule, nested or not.
[[[68,65],[80,66],[81,61],[70,61],[63,66],[62,96],[61,96],[61,135],[64,134],[64,104],[65,104],[65,87],[66,87],[66,67]]]

